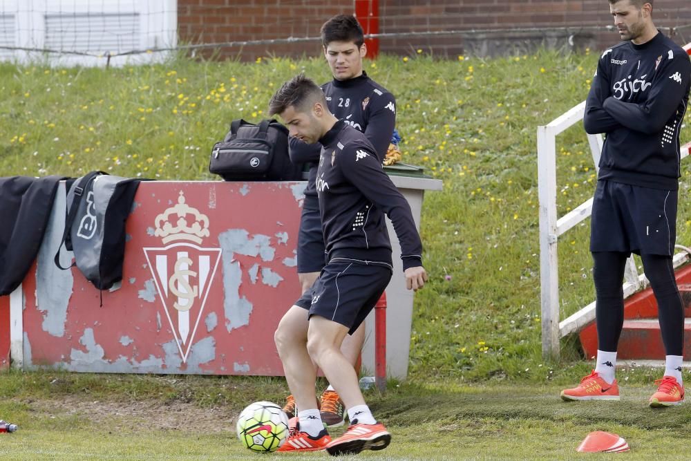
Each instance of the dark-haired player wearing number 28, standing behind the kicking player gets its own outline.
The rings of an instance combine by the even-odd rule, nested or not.
[[[332,17],[321,28],[324,55],[334,79],[321,86],[326,95],[328,109],[339,120],[362,131],[375,148],[375,155],[383,161],[396,122],[396,102],[386,88],[372,81],[362,69],[362,59],[367,53],[363,30],[352,15]],[[325,265],[324,237],[319,218],[319,202],[314,182],[319,162],[319,144],[307,144],[298,138],[290,138],[290,158],[296,163],[309,163],[310,178],[305,189],[305,201],[298,236],[298,276],[302,292],[312,288],[319,272]],[[303,308],[309,308],[309,304]],[[296,314],[296,315],[294,315]],[[278,333],[283,337],[301,337],[307,330],[307,317],[303,309],[284,318]],[[345,338],[341,350],[353,366],[359,358],[365,341],[364,323]],[[320,417],[328,427],[343,425],[343,402],[328,386],[320,397]],[[295,399],[287,397],[283,408],[289,417],[297,415]]]

